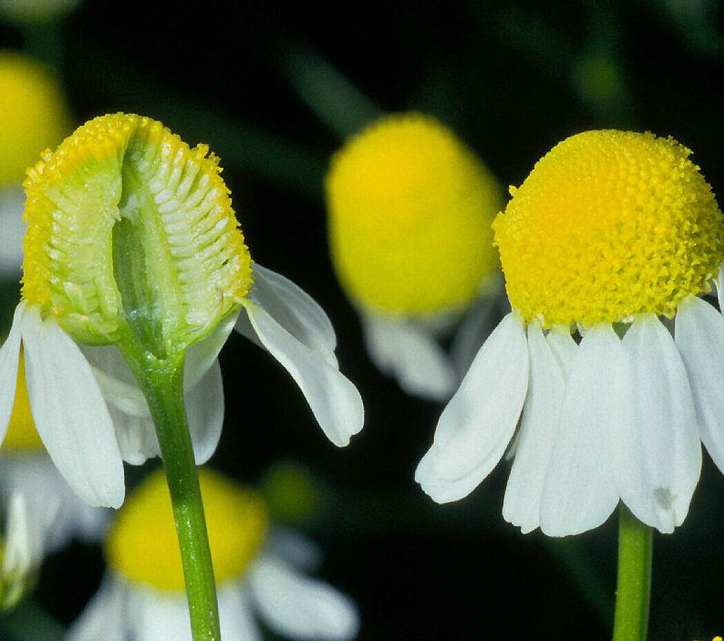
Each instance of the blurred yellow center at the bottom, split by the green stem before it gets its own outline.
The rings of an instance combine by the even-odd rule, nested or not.
[[[240,577],[269,525],[266,504],[253,490],[198,470],[217,583]],[[181,555],[166,479],[156,470],[129,496],[106,538],[109,566],[127,580],[182,593]]]

